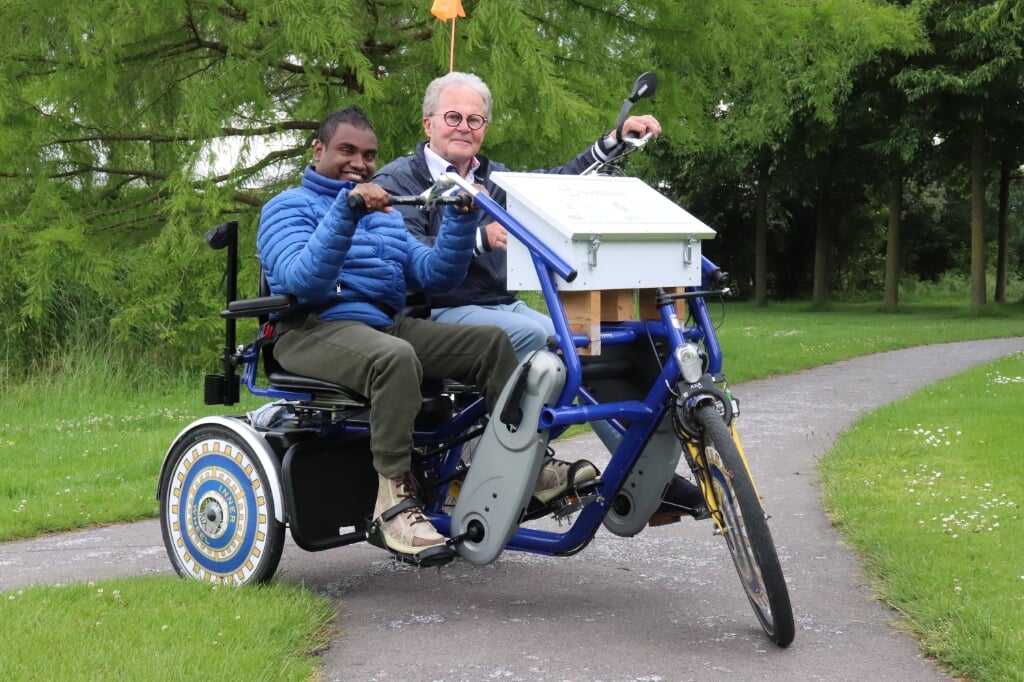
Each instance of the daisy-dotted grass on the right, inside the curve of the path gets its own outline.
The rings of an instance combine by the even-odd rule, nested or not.
[[[1024,671],[1024,352],[861,419],[819,469],[879,596],[956,676]]]

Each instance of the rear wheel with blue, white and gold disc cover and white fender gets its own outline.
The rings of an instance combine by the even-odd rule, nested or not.
[[[244,585],[273,577],[285,544],[266,473],[231,429],[208,424],[181,437],[160,491],[164,546],[186,578]]]

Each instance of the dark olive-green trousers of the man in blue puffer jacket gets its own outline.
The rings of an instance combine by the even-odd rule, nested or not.
[[[370,398],[374,468],[388,478],[410,469],[424,379],[478,386],[493,411],[516,367],[512,343],[498,327],[403,316],[374,329],[311,314],[282,335],[273,356],[292,374],[348,386]]]

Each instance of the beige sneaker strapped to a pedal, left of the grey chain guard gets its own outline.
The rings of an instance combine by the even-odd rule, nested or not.
[[[444,545],[444,538],[423,515],[423,507],[416,493],[416,479],[410,472],[398,478],[385,478],[377,474],[374,520],[380,525],[387,549],[410,556]]]

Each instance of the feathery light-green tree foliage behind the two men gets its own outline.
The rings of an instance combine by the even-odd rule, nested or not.
[[[83,321],[113,321],[134,348],[209,356],[222,262],[204,230],[239,219],[252,244],[259,206],[296,181],[334,109],[367,111],[382,159],[411,150],[423,90],[449,67],[450,25],[430,4],[5,2],[0,296],[13,360],[44,357]],[[487,152],[521,169],[609,128],[646,70],[662,80],[665,148],[738,168],[797,115],[830,125],[858,65],[920,38],[912,14],[871,0],[463,4],[456,69],[490,85]],[[254,270],[246,259],[244,289]]]

